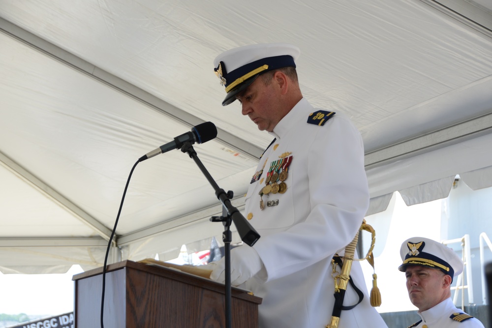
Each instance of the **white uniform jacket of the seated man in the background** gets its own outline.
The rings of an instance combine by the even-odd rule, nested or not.
[[[429,310],[417,313],[422,321],[410,326],[412,328],[484,328],[478,319],[457,308],[451,298],[443,300]]]

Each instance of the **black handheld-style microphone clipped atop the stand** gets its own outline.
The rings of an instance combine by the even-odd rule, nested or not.
[[[212,122],[205,122],[198,124],[197,126],[193,126],[190,132],[186,132],[180,136],[174,138],[174,141],[168,142],[165,145],[160,146],[157,149],[148,152],[138,159],[139,162],[144,161],[148,158],[154,157],[155,155],[161,154],[163,152],[173,150],[173,149],[181,149],[185,142],[189,142],[191,145],[196,143],[204,143],[214,139],[217,136],[217,128],[215,124]]]

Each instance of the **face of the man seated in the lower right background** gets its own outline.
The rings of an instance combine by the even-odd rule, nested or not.
[[[441,270],[407,266],[405,270],[408,297],[419,311],[426,311],[449,297],[451,277]]]

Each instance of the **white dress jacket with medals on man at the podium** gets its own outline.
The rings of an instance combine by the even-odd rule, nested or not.
[[[324,328],[330,323],[335,299],[331,259],[354,238],[369,205],[359,131],[339,113],[323,126],[307,123],[315,111],[303,98],[278,122],[271,132],[277,140],[257,168],[264,167],[263,173],[246,194],[246,216],[261,236],[253,247],[264,264],[246,282],[263,298],[260,328]],[[260,196],[271,163],[282,154],[292,156],[287,190]],[[278,204],[268,206],[269,201]],[[338,327],[387,327],[369,304],[358,262],[353,262],[351,276],[364,300],[342,311]],[[349,286],[344,305],[358,300]]]

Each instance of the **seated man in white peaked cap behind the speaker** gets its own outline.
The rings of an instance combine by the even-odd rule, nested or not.
[[[403,263],[398,269],[405,272],[408,296],[422,318],[410,327],[484,328],[451,299],[453,277],[463,271],[463,262],[451,248],[414,237],[401,244],[400,256]]]

